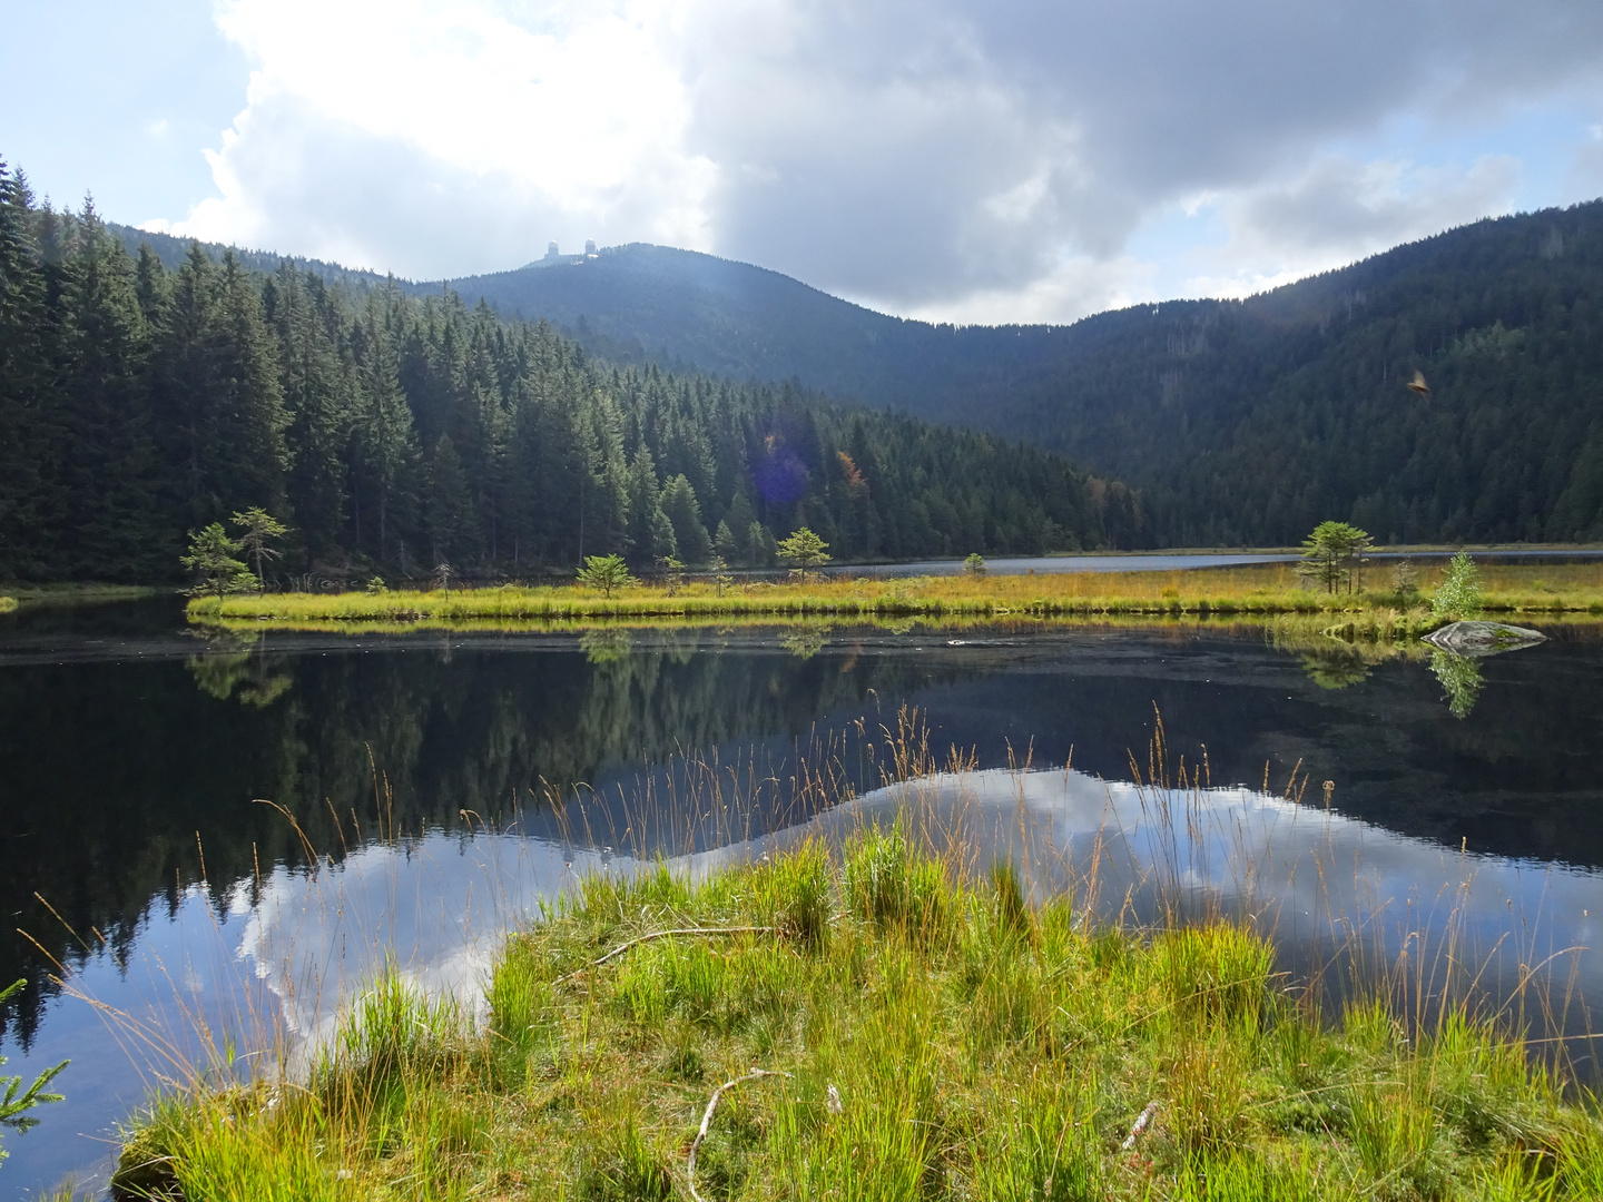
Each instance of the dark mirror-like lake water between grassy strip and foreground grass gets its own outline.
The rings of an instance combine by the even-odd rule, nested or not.
[[[585,870],[705,870],[890,813],[906,798],[872,790],[867,744],[904,705],[981,769],[920,787],[923,809],[962,814],[1037,889],[1101,833],[1137,891],[1172,880],[1273,910],[1289,947],[1316,947],[1332,915],[1391,947],[1452,907],[1478,946],[1512,931],[1516,958],[1589,946],[1603,638],[1550,635],[1481,662],[1457,716],[1428,660],[1228,625],[245,644],[191,635],[175,601],[0,617],[0,979],[30,979],[0,1051],[5,1072],[72,1058],[67,1101],[5,1135],[0,1180],[103,1181],[115,1122],[170,1071],[164,1040],[202,1051],[196,1018],[244,1050],[263,1031],[314,1040],[386,954],[471,997],[497,934]],[[1154,713],[1177,760],[1205,747],[1209,766],[1167,816],[1130,784]],[[821,811],[795,777],[824,760],[866,797]],[[1282,797],[1294,772],[1302,805]],[[1177,851],[1188,805],[1218,833],[1209,854]],[[1247,880],[1249,862],[1279,870]],[[1340,880],[1313,896],[1321,873],[1298,864]],[[46,984],[46,954],[72,990]],[[1576,965],[1597,997],[1595,963]]]

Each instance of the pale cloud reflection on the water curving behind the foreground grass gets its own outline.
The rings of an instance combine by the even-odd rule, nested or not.
[[[1436,1000],[1464,995],[1472,981],[1494,1005],[1521,982],[1557,981],[1571,1003],[1603,986],[1598,958],[1579,950],[1598,934],[1595,870],[1452,851],[1258,790],[1141,789],[1076,771],[936,776],[689,854],[676,854],[665,829],[628,849],[511,833],[370,846],[321,873],[274,872],[240,949],[279,997],[290,1035],[316,1043],[390,963],[483,1006],[502,934],[588,872],[665,864],[699,877],[808,838],[838,851],[864,824],[896,821],[936,854],[976,872],[1010,862],[1037,901],[1069,891],[1106,920],[1236,914],[1303,973],[1343,962],[1383,968],[1406,950],[1423,963],[1414,981]],[[1560,1008],[1534,1008],[1532,1021],[1585,1031],[1584,1013],[1566,1013],[1558,992]]]

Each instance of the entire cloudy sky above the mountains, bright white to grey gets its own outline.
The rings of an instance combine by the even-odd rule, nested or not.
[[[1592,0],[0,0],[0,157],[410,279],[657,242],[931,321],[1603,194]]]

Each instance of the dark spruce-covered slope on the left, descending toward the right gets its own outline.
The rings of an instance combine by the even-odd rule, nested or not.
[[[1129,542],[1066,460],[795,386],[614,367],[547,324],[191,247],[130,256],[0,171],[0,579],[170,579],[263,506],[285,574],[571,571],[617,551],[766,563]]]

